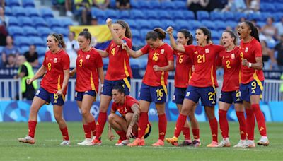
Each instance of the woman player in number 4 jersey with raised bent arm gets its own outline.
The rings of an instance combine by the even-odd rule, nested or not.
[[[96,139],[93,140],[93,145],[100,145],[100,136],[103,132],[104,125],[107,119],[107,109],[112,99],[112,88],[118,83],[123,83],[125,86],[125,93],[129,95],[130,77],[132,77],[132,70],[129,67],[129,55],[122,49],[122,44],[126,43],[132,48],[132,32],[129,25],[124,20],[117,20],[112,25],[112,20],[106,20],[108,28],[111,32],[113,40],[110,42],[105,51],[98,50],[101,56],[109,57],[108,69],[105,76],[105,81],[100,96],[100,112],[98,115]]]

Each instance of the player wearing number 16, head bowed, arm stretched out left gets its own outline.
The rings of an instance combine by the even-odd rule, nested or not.
[[[144,145],[142,138],[145,133],[146,124],[149,120],[149,105],[154,102],[158,114],[159,138],[153,146],[163,146],[164,136],[166,134],[167,119],[165,114],[165,102],[167,96],[167,78],[168,71],[174,68],[173,49],[170,45],[163,42],[166,32],[161,28],[155,28],[146,34],[146,45],[138,51],[133,51],[127,44],[123,44],[123,48],[127,53],[137,58],[143,54],[148,55],[146,73],[141,84],[139,92],[141,115],[139,117],[139,134],[138,138],[129,143],[128,146]]]

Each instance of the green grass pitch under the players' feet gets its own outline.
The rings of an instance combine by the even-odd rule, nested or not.
[[[35,145],[18,143],[17,138],[27,134],[27,123],[0,123],[0,160],[283,160],[283,123],[267,123],[270,145],[256,148],[207,148],[211,142],[208,123],[200,123],[200,148],[179,148],[168,143],[154,148],[151,143],[158,139],[158,123],[152,124],[152,131],[144,147],[115,147],[115,141],[108,141],[107,126],[100,146],[79,146],[83,141],[80,122],[68,122],[71,145],[60,146],[61,133],[56,123],[39,123],[35,132]],[[238,143],[238,124],[229,122],[230,141]],[[168,122],[166,137],[173,136],[175,122]],[[260,135],[255,126],[255,141]],[[183,136],[180,136],[183,141]],[[219,141],[221,134],[219,131]]]

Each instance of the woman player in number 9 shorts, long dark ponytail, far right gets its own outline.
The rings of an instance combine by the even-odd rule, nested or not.
[[[248,141],[246,147],[255,147],[255,118],[258,121],[258,130],[261,135],[258,145],[269,145],[265,117],[260,110],[260,97],[265,77],[262,71],[262,48],[258,38],[258,30],[250,21],[244,21],[238,28],[238,35],[241,38],[240,55],[242,58],[241,100],[243,100],[247,115]]]

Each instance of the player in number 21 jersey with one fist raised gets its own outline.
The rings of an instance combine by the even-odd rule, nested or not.
[[[196,30],[195,39],[197,40],[197,46],[177,45],[172,35],[173,28],[169,27],[167,32],[169,33],[173,49],[188,54],[193,60],[195,71],[192,73],[192,78],[190,78],[189,86],[187,87],[183,106],[176,122],[174,136],[173,138],[166,138],[166,141],[168,143],[178,141],[178,136],[183,129],[187,115],[194,114],[193,109],[199,98],[201,98],[212,131],[212,143],[207,145],[207,147],[216,147],[218,145],[218,124],[214,114],[214,106],[216,104],[215,87],[218,86],[216,80],[216,56],[224,47],[211,44],[211,35],[207,28],[198,28]],[[193,142],[194,146],[200,146],[200,139],[195,139]]]

